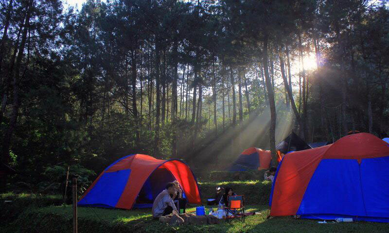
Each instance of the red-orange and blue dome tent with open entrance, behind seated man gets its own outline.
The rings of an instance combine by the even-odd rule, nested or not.
[[[78,205],[121,209],[151,207],[166,183],[174,180],[180,184],[189,203],[201,204],[195,176],[184,162],[132,154],[108,166]]]

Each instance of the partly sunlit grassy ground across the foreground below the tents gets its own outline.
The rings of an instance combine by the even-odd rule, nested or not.
[[[111,210],[101,208],[78,208],[79,232],[81,233],[387,233],[389,224],[351,222],[337,224],[318,224],[317,220],[294,219],[292,217],[275,217],[266,219],[268,214],[265,205],[250,205],[247,212],[260,212],[260,215],[248,216],[245,223],[234,221],[226,223],[224,220],[217,225],[205,226],[177,226],[168,225],[152,220],[150,209],[138,210]],[[189,212],[195,208],[188,209]],[[0,232],[71,232],[71,206],[50,206],[26,211],[12,227]],[[17,226],[17,228],[15,228]]]

